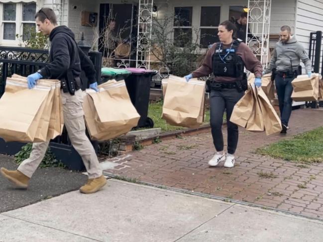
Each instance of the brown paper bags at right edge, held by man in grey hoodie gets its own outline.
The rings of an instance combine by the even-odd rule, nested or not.
[[[317,101],[320,97],[320,75],[312,74],[309,78],[307,75],[297,76],[292,81],[294,87],[292,99],[294,101]]]

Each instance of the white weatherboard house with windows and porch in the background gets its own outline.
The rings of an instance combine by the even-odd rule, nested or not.
[[[136,66],[147,68],[150,66],[149,49],[141,48],[140,39],[151,38],[153,17],[162,19],[166,14],[175,15],[178,9],[184,9],[187,21],[174,28],[186,29],[192,40],[201,43],[201,53],[205,52],[203,47],[207,43],[216,41],[211,37],[201,38],[201,33],[216,33],[220,22],[249,9],[248,24],[259,42],[249,46],[254,48],[255,55],[264,65],[267,64],[268,46],[272,47],[277,41],[282,25],[290,25],[307,50],[310,33],[323,31],[323,0],[0,0],[0,45],[21,44],[16,34],[23,35],[24,26],[34,24],[34,13],[41,7],[54,9],[59,24],[70,27],[77,41],[84,33],[88,43],[93,41],[94,28],[99,31],[103,27],[107,12],[112,11],[119,24],[129,24],[125,20],[129,22],[130,19],[132,25],[129,26],[134,23],[140,26],[132,27],[128,32],[128,35],[138,36],[138,43],[131,47],[136,48],[136,55],[131,59],[135,59]],[[86,26],[89,18],[96,22],[95,27]],[[199,29],[199,33],[192,32],[192,28]]]

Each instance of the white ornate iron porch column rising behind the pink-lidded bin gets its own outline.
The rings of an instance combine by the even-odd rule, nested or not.
[[[154,0],[139,0],[136,67],[150,68],[152,8]]]

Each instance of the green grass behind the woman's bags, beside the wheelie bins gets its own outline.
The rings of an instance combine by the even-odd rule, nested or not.
[[[149,103],[148,117],[154,121],[154,128],[161,128],[162,131],[174,131],[185,129],[185,127],[173,126],[166,123],[164,119],[161,118],[163,110],[163,102],[152,102]],[[210,110],[205,111],[205,123],[210,122]]]

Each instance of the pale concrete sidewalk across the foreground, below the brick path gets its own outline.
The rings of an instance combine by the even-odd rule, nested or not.
[[[323,223],[109,179],[0,214],[0,242],[319,242]]]

